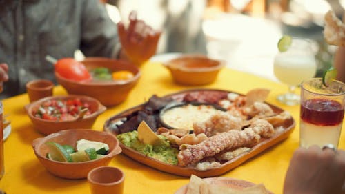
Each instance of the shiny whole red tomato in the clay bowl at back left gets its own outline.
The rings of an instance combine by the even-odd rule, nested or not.
[[[59,59],[55,64],[55,72],[61,77],[75,81],[91,79],[91,75],[86,67],[73,58]]]

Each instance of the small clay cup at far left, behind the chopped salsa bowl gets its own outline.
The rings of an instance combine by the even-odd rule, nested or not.
[[[29,95],[30,102],[52,96],[53,88],[54,84],[47,79],[37,79],[26,83],[26,92]]]

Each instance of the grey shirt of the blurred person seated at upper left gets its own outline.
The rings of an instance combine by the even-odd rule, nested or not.
[[[55,81],[46,55],[115,57],[117,28],[99,0],[0,0],[0,63],[9,66],[0,99],[26,92],[32,79]]]

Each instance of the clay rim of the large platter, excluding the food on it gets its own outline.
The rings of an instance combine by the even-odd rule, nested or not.
[[[184,99],[184,96],[186,94],[208,94],[210,96],[213,95],[213,93],[219,94],[219,93],[233,93],[232,91],[226,91],[226,90],[213,90],[213,89],[202,89],[202,90],[183,90],[178,93],[172,93],[170,95],[166,95],[163,98],[172,98],[175,101],[182,101]],[[242,94],[239,94],[242,95]],[[266,103],[268,104],[268,103]],[[112,124],[115,122],[118,122],[124,118],[126,118],[128,115],[132,115],[132,113],[137,112],[138,110],[142,110],[144,108],[145,104],[139,104],[138,106],[135,106],[133,108],[129,108],[128,110],[124,110],[123,112],[114,115],[110,117],[108,120],[106,120],[103,129],[105,131],[108,131],[110,133],[113,133],[114,135],[119,135],[119,130],[114,130],[112,128]],[[274,106],[272,104],[268,104],[275,113],[279,114],[282,113],[284,110],[281,108]],[[267,148],[270,148],[272,146],[275,146],[279,142],[282,142],[284,139],[286,139],[290,133],[293,132],[293,129],[295,128],[295,120],[293,117],[290,117],[290,119],[286,120],[283,125],[283,130],[279,130],[278,133],[275,133],[273,137],[270,137],[268,139],[262,138],[258,144],[255,144],[255,146],[250,148],[250,151],[247,153],[244,153],[242,155],[239,155],[238,157],[235,157],[234,159],[231,159],[227,162],[224,162],[220,166],[217,166],[212,169],[208,169],[206,171],[200,171],[195,167],[182,167],[172,164],[166,164],[164,162],[160,162],[157,159],[153,159],[152,157],[147,157],[146,155],[139,153],[138,151],[135,151],[132,148],[129,148],[122,144],[120,142],[120,146],[122,148],[122,153],[127,155],[128,157],[136,160],[137,162],[140,162],[142,164],[146,164],[147,166],[150,166],[152,168],[156,168],[159,171],[164,171],[166,173],[171,173],[174,175],[180,175],[183,177],[190,177],[190,175],[197,175],[198,177],[215,177],[221,174],[224,174],[231,169],[239,166],[240,164],[246,162],[246,160],[254,157],[255,155],[262,153],[262,151],[266,150]]]

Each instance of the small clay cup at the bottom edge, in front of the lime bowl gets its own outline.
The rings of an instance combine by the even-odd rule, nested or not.
[[[88,173],[91,194],[124,193],[124,172],[112,166],[100,166]]]

